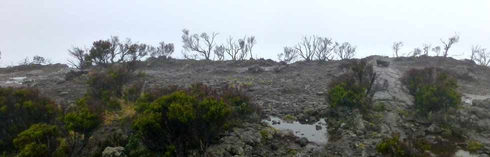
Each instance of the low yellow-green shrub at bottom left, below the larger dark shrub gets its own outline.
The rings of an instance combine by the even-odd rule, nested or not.
[[[57,136],[56,126],[34,124],[18,134],[13,144],[19,149],[19,157],[51,157],[57,148]]]

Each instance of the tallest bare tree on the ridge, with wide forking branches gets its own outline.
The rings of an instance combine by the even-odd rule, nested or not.
[[[200,35],[190,34],[189,30],[182,29],[182,47],[183,49],[188,51],[197,52],[200,56],[204,57],[205,60],[210,60],[211,50],[215,46],[214,38],[219,33],[212,32],[212,35],[209,36],[207,33],[203,32]],[[200,45],[200,39],[204,40],[204,46]],[[183,53],[186,53],[183,52]],[[187,55],[188,56],[188,55]]]

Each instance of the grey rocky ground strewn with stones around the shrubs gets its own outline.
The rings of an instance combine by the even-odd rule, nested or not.
[[[490,153],[490,69],[477,66],[469,61],[451,58],[416,57],[386,58],[381,56],[367,57],[375,65],[376,59],[390,61],[388,67],[374,66],[381,79],[389,82],[387,91],[376,93],[375,103],[384,104],[384,108],[372,112],[370,118],[360,115],[356,110],[344,111],[344,118],[328,117],[329,108],[324,95],[328,83],[345,72],[341,68],[347,61],[330,61],[327,63],[296,62],[279,66],[271,60],[254,61],[195,61],[195,60],[148,60],[139,67],[149,77],[145,88],[154,86],[179,85],[187,86],[194,82],[203,82],[219,88],[231,84],[247,85],[252,102],[263,108],[264,117],[261,123],[244,124],[233,132],[223,135],[220,144],[211,146],[210,156],[325,156],[325,157],[367,157],[380,156],[375,151],[375,144],[382,137],[399,132],[402,138],[416,136],[425,138],[431,143],[449,148],[442,152],[432,151],[434,156],[452,156],[464,149],[468,139],[484,145],[477,152],[480,157]],[[410,113],[412,98],[406,94],[398,81],[409,68],[436,66],[447,70],[458,79],[459,92],[463,94],[462,107],[457,114],[451,115],[456,120],[458,131],[464,140],[443,138],[447,131]],[[40,66],[31,69],[0,69],[0,86],[29,86],[39,88],[43,94],[65,106],[81,97],[86,90],[86,75],[72,80],[65,80],[66,73],[75,70],[67,66]],[[486,100],[484,100],[486,99]],[[293,116],[300,122],[313,124],[310,127],[327,127],[328,141],[300,138],[301,132],[278,130],[266,123],[270,116]],[[324,118],[325,122],[317,122]],[[354,123],[352,123],[354,122]],[[126,129],[107,129],[103,126],[97,132],[103,136],[94,136],[92,149],[86,152],[100,154],[105,147],[118,147],[117,144],[100,142],[107,140],[107,134],[127,134]],[[116,132],[112,131],[116,130]],[[96,134],[94,134],[96,135]],[[112,135],[114,136],[114,135]],[[297,137],[299,136],[299,137]],[[318,135],[322,136],[322,135]],[[325,135],[323,135],[325,136]],[[439,146],[439,145],[437,145]],[[118,150],[118,149],[109,149]],[[109,153],[107,153],[109,154]],[[112,153],[114,154],[114,153]],[[116,153],[115,153],[116,154]],[[459,155],[459,154],[458,154]]]

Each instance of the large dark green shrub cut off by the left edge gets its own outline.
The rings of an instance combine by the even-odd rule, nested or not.
[[[13,150],[13,138],[32,124],[53,123],[59,112],[38,90],[0,88],[0,152]]]

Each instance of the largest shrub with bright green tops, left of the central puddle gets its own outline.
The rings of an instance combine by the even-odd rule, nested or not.
[[[132,128],[151,151],[174,156],[187,149],[205,151],[218,135],[246,120],[248,115],[241,114],[255,112],[248,97],[238,91],[226,87],[218,92],[198,83],[169,95],[143,93],[136,100],[137,110],[143,113],[133,121]]]

